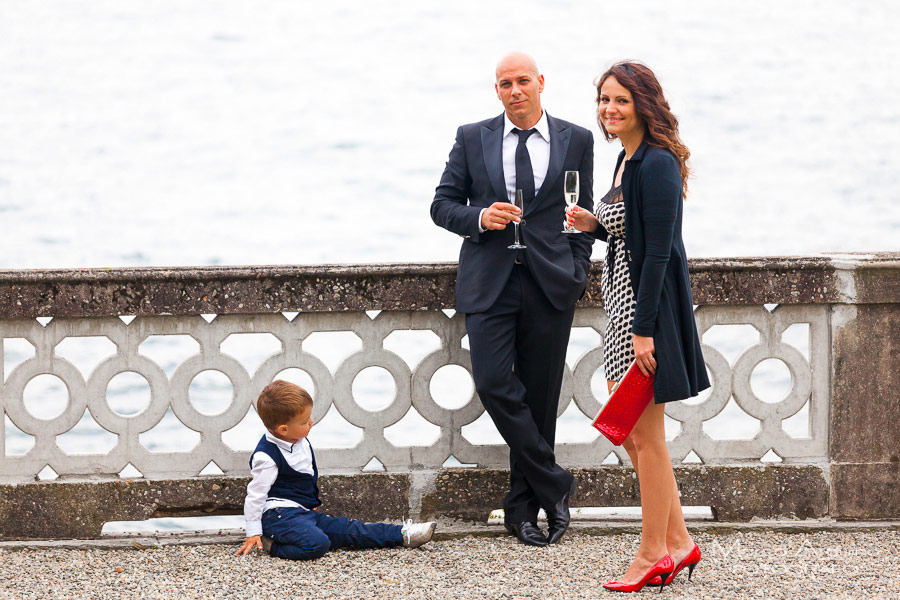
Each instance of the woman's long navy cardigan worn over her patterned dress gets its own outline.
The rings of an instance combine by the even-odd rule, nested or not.
[[[625,151],[619,154],[619,165]],[[637,299],[635,335],[656,348],[655,402],[696,396],[709,387],[694,322],[687,256],[681,239],[684,207],[678,160],[664,148],[641,143],[622,174],[625,252]],[[609,236],[602,225],[594,236]],[[612,265],[607,265],[611,268]]]

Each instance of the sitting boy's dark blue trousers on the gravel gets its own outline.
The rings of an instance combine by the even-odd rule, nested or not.
[[[363,523],[315,510],[272,508],[263,513],[263,534],[272,538],[272,556],[311,560],[334,548],[390,548],[403,543],[399,525]]]

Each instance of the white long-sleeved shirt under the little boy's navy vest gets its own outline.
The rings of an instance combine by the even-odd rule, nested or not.
[[[312,446],[303,438],[296,444],[278,439],[266,432],[266,439],[275,444],[292,469],[300,473],[313,474]],[[305,443],[304,443],[305,442]],[[244,500],[244,521],[247,537],[262,535],[262,515],[270,508],[289,506],[309,510],[302,504],[284,498],[269,498],[269,490],[278,478],[278,465],[265,452],[254,452],[250,458],[250,483],[247,484],[247,498]]]

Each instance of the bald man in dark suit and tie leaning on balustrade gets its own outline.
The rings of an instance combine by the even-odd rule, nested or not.
[[[497,65],[504,114],[463,125],[431,204],[434,222],[464,238],[456,310],[466,314],[472,375],[509,446],[507,529],[526,543],[559,541],[575,478],[556,464],[556,412],[575,302],[592,240],[562,233],[563,173],[580,173],[578,204],[593,209],[591,133],[541,107],[544,76],[522,53]],[[524,211],[510,204],[524,192]],[[509,249],[520,223],[525,250]],[[537,526],[547,513],[548,535]]]

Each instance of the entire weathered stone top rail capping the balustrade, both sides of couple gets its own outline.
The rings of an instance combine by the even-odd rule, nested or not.
[[[690,270],[697,304],[900,302],[900,254],[703,258]],[[601,271],[594,261],[579,306],[602,306]],[[451,262],[0,271],[0,319],[440,310],[455,282]]]

